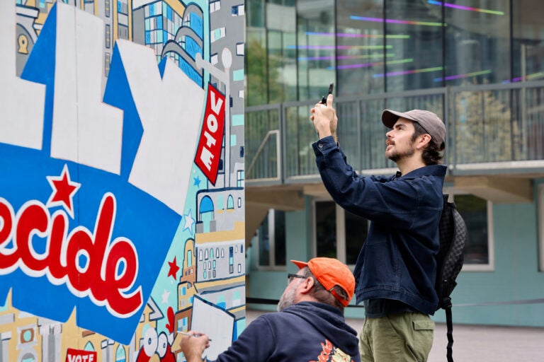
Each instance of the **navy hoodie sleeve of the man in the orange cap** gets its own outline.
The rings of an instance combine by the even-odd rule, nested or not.
[[[244,329],[227,351],[217,356],[217,362],[268,361],[275,346],[276,337],[266,318],[261,316]]]

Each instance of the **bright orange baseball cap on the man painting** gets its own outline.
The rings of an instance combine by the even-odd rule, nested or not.
[[[346,264],[338,259],[330,257],[314,257],[313,259],[310,259],[309,262],[299,262],[297,260],[291,260],[291,262],[299,267],[299,269],[308,267],[308,269],[312,271],[312,274],[314,274],[315,279],[317,279],[317,281],[319,281],[334,298],[338,299],[344,307],[349,304],[351,297],[353,297],[353,292],[355,291],[355,278],[353,278],[353,273]],[[339,286],[344,289],[348,295],[348,299],[344,299],[336,293],[333,289],[334,286]]]

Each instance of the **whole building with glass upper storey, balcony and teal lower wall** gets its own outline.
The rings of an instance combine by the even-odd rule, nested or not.
[[[334,82],[336,136],[360,175],[397,170],[384,156],[383,109],[431,110],[446,124],[443,192],[469,234],[454,303],[541,298],[544,2],[245,4],[248,296],[281,295],[290,259],[336,257],[353,267],[365,242],[368,221],[334,203],[312,150],[310,108]],[[543,327],[543,308],[474,306],[455,318]]]

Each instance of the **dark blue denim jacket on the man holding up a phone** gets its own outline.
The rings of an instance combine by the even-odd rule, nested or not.
[[[418,168],[407,175],[364,177],[346,163],[329,136],[312,144],[317,168],[334,201],[370,220],[368,237],[353,274],[356,303],[400,300],[433,315],[438,221],[446,166]]]

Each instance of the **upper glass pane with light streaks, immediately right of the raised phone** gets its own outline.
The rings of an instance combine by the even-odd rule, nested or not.
[[[382,1],[336,1],[337,95],[381,93],[384,62],[395,54],[385,46]]]

